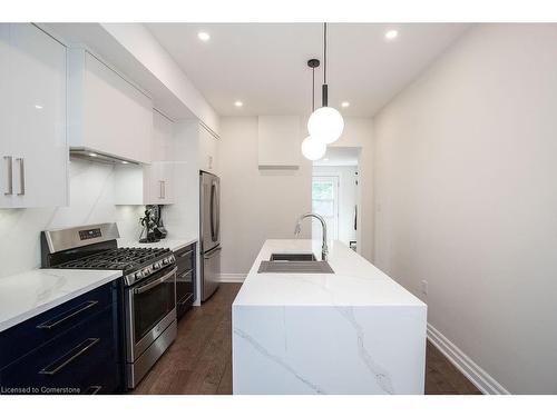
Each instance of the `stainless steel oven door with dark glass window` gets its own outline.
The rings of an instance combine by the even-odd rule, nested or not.
[[[176,320],[176,270],[165,268],[126,288],[127,361],[134,363]]]

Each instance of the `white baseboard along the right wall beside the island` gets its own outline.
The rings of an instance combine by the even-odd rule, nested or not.
[[[483,394],[506,394],[510,393],[492,378],[478,364],[470,359],[452,341],[447,339],[438,329],[428,324],[428,339],[433,344],[458,370]]]

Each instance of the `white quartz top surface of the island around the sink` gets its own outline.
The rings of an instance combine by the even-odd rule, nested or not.
[[[236,299],[241,306],[423,306],[375,266],[335,240],[329,247],[334,274],[257,274],[271,254],[313,252],[321,259],[321,241],[266,240]]]

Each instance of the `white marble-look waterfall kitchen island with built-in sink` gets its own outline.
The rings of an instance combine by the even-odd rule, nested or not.
[[[340,241],[334,274],[258,274],[271,254],[321,242],[266,240],[232,306],[234,394],[423,394],[427,306]]]

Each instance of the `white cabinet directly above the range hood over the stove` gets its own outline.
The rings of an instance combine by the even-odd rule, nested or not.
[[[70,50],[69,72],[70,147],[150,162],[152,100],[82,49]]]

